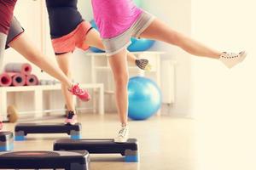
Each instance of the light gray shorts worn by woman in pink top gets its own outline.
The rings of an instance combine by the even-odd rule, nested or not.
[[[143,11],[137,21],[128,30],[117,37],[103,38],[102,42],[106,48],[107,56],[118,54],[123,49],[128,48],[131,44],[131,37],[139,37],[150,26],[154,18],[154,15]]]

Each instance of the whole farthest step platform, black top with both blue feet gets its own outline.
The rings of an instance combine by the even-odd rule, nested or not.
[[[28,133],[67,133],[71,139],[80,139],[81,129],[81,123],[19,123],[15,126],[15,141],[25,140]]]

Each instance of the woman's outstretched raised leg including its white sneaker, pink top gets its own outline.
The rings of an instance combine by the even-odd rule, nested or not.
[[[155,19],[148,28],[143,31],[140,37],[160,40],[183,48],[189,54],[219,59],[228,68],[241,63],[246,56],[246,51],[241,51],[239,54],[220,52],[218,50],[208,48],[201,42],[196,42],[190,37],[183,35],[180,32],[172,30],[162,21]]]

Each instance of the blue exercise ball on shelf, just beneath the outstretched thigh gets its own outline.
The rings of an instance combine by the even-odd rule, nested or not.
[[[128,47],[128,50],[131,52],[138,52],[138,51],[146,51],[154,45],[153,40],[148,40],[145,38],[137,39],[132,37],[131,38],[131,45]]]

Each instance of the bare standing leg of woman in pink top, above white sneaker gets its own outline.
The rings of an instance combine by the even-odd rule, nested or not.
[[[119,112],[119,119],[123,126],[127,124],[128,111],[128,79],[129,73],[127,69],[127,52],[123,50],[119,54],[109,57],[109,63],[113,71],[115,81],[115,96]]]

